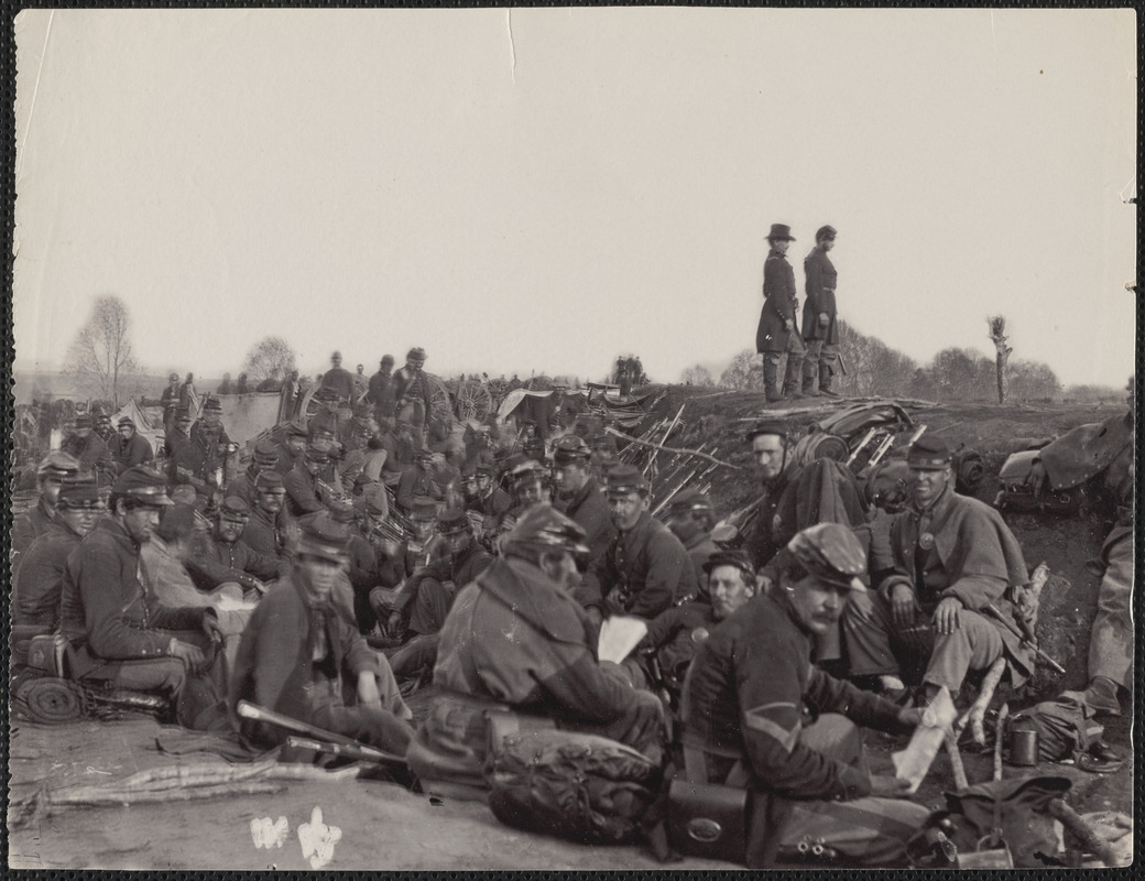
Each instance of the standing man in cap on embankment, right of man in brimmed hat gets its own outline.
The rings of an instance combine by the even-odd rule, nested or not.
[[[826,394],[838,398],[831,380],[839,364],[839,327],[835,306],[838,273],[827,255],[835,247],[835,227],[815,230],[815,246],[803,260],[807,282],[804,286],[803,341],[807,354],[803,361],[803,393],[811,398]],[[816,381],[819,387],[815,387]]]

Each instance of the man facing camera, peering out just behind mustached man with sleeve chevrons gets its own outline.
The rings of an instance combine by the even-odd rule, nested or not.
[[[633,683],[666,690],[673,706],[696,648],[712,629],[756,596],[756,575],[742,551],[714,550],[702,569],[700,596],[661,612],[624,666]]]

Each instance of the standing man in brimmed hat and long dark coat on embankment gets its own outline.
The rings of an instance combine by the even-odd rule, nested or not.
[[[795,270],[787,260],[788,247],[795,238],[791,228],[772,223],[767,235],[771,251],[764,261],[764,308],[756,330],[756,352],[764,356],[764,386],[767,401],[802,398],[803,338],[796,322],[799,301],[795,296]],[[779,386],[780,357],[787,353],[787,373],[783,388]]]

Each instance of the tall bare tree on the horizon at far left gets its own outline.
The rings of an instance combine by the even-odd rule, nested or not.
[[[97,297],[87,323],[68,349],[64,371],[79,386],[119,407],[120,390],[135,387],[142,367],[132,354],[131,313],[118,297]]]

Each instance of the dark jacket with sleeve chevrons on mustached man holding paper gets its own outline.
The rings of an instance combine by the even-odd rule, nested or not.
[[[859,725],[898,729],[894,703],[814,667],[811,647],[785,595],[757,597],[711,631],[684,684],[684,749],[724,760],[726,768],[742,762],[750,771],[750,868],[774,860],[787,800],[870,794],[864,771],[799,742],[805,724],[842,713]]]

